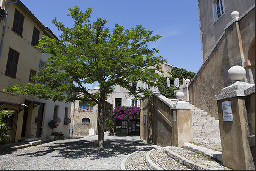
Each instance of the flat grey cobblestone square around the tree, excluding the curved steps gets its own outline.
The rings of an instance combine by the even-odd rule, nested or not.
[[[0,170],[120,170],[124,157],[158,148],[139,136],[98,136],[56,140],[1,154]]]

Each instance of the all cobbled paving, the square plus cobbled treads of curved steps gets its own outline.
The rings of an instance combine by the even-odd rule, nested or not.
[[[1,154],[0,170],[120,170],[125,160],[127,170],[151,170],[146,165],[146,153],[164,170],[191,170],[169,157],[165,148],[149,144],[139,136],[104,136],[104,147],[97,148],[97,136],[71,137],[66,140],[50,141]],[[221,151],[220,143],[197,143],[215,151]],[[187,149],[172,146],[172,151],[209,165],[216,170],[231,170],[223,165]],[[205,163],[206,162],[206,163]],[[207,163],[208,162],[208,163]]]

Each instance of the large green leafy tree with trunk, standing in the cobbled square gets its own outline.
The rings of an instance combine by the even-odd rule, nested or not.
[[[58,22],[55,17],[52,23],[60,30],[60,40],[42,36],[36,48],[42,53],[49,53],[48,65],[39,69],[42,75],[33,77],[44,84],[17,84],[7,86],[11,94],[36,95],[52,101],[84,101],[98,105],[98,147],[104,143],[103,107],[105,99],[113,93],[114,86],[120,85],[128,90],[129,95],[141,98],[152,93],[143,88],[134,88],[129,83],[142,81],[149,86],[155,85],[160,76],[152,73],[149,67],[163,72],[160,63],[166,62],[162,56],[155,56],[158,50],[149,48],[148,42],[160,39],[152,35],[142,25],[131,29],[115,24],[110,32],[106,27],[107,20],[97,18],[91,23],[92,8],[84,12],[78,7],[68,8],[68,17],[74,19],[72,28]],[[68,80],[68,83],[67,83]],[[83,84],[98,82],[99,93],[89,93]],[[65,84],[66,83],[66,84]],[[77,97],[72,92],[84,93]]]

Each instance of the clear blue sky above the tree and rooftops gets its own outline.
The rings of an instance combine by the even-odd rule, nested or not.
[[[149,48],[160,50],[167,64],[197,72],[202,65],[200,31],[196,0],[21,0],[21,2],[56,36],[61,33],[51,23],[54,17],[65,26],[72,27],[67,17],[68,8],[78,6],[82,11],[92,8],[91,22],[96,18],[108,20],[107,27],[115,23],[127,28],[141,24],[162,38],[149,43]]]

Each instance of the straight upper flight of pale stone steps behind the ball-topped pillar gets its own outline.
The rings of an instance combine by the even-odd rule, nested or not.
[[[220,143],[219,120],[192,105],[194,143]]]

